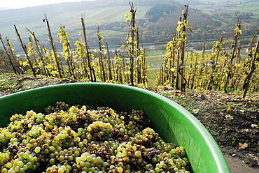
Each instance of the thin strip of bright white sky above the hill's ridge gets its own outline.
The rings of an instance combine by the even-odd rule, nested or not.
[[[1,8],[23,8],[29,6],[41,6],[50,3],[94,1],[94,0],[0,0]]]

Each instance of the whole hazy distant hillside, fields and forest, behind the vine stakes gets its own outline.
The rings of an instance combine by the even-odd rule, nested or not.
[[[184,8],[181,4],[184,1],[177,1],[134,1],[134,6],[137,8],[137,27],[139,27],[141,43],[166,43],[172,39],[172,33],[176,31],[179,16]],[[198,3],[199,1],[192,2]],[[121,45],[125,43],[125,36],[129,31],[129,23],[125,22],[126,13],[130,13],[128,0],[81,1],[0,10],[0,34],[13,41],[15,51],[22,52],[13,27],[15,24],[25,43],[28,42],[29,37],[25,28],[28,28],[36,34],[41,45],[49,47],[48,30],[46,23],[43,22],[44,15],[46,15],[57,49],[61,47],[56,35],[59,32],[59,27],[63,25],[71,36],[69,40],[73,48],[73,43],[81,37],[78,36],[79,31],[82,31],[80,18],[84,16],[90,47],[95,47],[98,44],[97,24],[101,24],[100,31],[103,33],[104,42],[108,41],[109,45]],[[218,13],[215,11],[213,15],[209,15],[209,13],[203,13],[203,10],[192,8],[190,5],[188,14],[190,27],[193,29],[193,33],[188,32],[189,40],[219,39],[223,34],[225,38],[233,36],[237,21],[236,13],[218,10]],[[240,12],[237,15],[244,19],[242,23],[244,25],[243,35],[253,35],[259,25],[259,21],[253,18],[257,15],[256,10],[254,14],[253,11],[249,11],[249,13]]]

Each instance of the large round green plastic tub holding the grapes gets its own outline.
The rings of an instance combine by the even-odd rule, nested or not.
[[[193,114],[157,93],[121,84],[59,84],[13,93],[0,98],[0,127],[10,116],[27,110],[44,112],[48,105],[64,101],[94,107],[108,106],[117,111],[144,110],[153,122],[152,128],[166,142],[186,149],[192,172],[230,172],[223,153],[214,138]]]

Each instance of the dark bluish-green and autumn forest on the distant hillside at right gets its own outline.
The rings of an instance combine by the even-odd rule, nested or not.
[[[158,3],[153,6],[146,13],[146,19],[137,19],[141,43],[163,43],[169,41],[174,34],[174,29],[177,27],[181,11],[182,6],[179,3]],[[202,13],[201,10],[190,8],[188,21],[193,32],[188,32],[188,39],[218,39],[222,35],[225,38],[232,38],[237,17],[242,20],[242,36],[253,36],[256,29],[258,29],[259,22],[251,16],[253,16],[253,13],[236,12],[232,14],[222,12],[212,17]],[[127,24],[124,22],[109,22],[102,24],[100,29],[127,31],[127,27]],[[89,26],[87,29],[94,29],[94,26]],[[105,39],[114,45],[116,45],[118,40],[124,41],[120,36],[107,35]]]

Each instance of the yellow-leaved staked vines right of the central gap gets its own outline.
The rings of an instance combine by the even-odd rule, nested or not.
[[[181,22],[180,19],[179,22],[184,24],[184,21]],[[181,58],[182,40],[179,40],[181,39],[179,36],[185,33],[179,31],[179,36],[176,37],[174,34],[172,41],[167,43],[167,53],[159,73],[158,85],[175,87],[181,91],[186,88],[224,92],[243,91],[243,98],[248,89],[258,91],[259,71],[256,68],[259,61],[259,38],[255,40],[258,31],[259,29],[251,38],[250,47],[247,48],[247,57],[241,57],[241,43],[239,43],[239,36],[242,34],[241,20],[237,18],[230,52],[225,49],[223,36],[221,36],[218,41],[214,42],[212,52],[207,54],[207,57],[205,57],[206,40],[204,40],[202,54],[192,51],[185,61]]]

